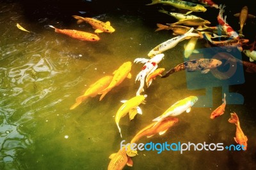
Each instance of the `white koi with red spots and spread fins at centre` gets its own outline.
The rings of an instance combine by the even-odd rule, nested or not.
[[[134,63],[145,63],[145,65],[142,67],[142,70],[138,75],[136,76],[135,81],[140,81],[140,88],[138,89],[136,95],[140,95],[142,91],[144,91],[144,82],[145,77],[154,72],[157,68],[157,64],[160,63],[160,61],[164,58],[164,54],[157,54],[154,56],[154,58],[151,59],[145,59],[145,58],[136,58],[134,59]]]

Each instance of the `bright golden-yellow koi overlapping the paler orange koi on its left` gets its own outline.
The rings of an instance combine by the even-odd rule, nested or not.
[[[131,79],[131,68],[131,61],[127,61],[123,63],[117,70],[115,70],[115,72],[113,72],[113,79],[110,82],[109,86],[106,89],[99,92],[99,94],[102,94],[100,96],[100,101],[109,91],[111,91],[111,89],[115,88],[115,86],[119,86],[119,84],[121,84],[121,82],[123,82],[126,77],[128,79]]]

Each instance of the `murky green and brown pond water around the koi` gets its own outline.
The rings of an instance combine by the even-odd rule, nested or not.
[[[139,151],[138,156],[132,157],[133,167],[124,169],[255,169],[255,73],[242,70],[244,82],[225,88],[205,85],[205,88],[189,89],[185,71],[173,73],[166,79],[157,77],[143,93],[147,94],[147,103],[140,105],[143,114],[132,121],[128,116],[120,120],[122,138],[115,124],[115,114],[122,105],[120,100],[136,95],[140,85],[134,81],[143,64],[133,64],[132,78],[109,91],[102,101],[97,95],[70,110],[90,84],[112,75],[122,63],[148,58],[151,49],[174,37],[172,31],[155,32],[157,23],[175,22],[172,17],[157,12],[159,5],[145,6],[149,1],[109,3],[113,5],[102,1],[77,4],[74,1],[69,10],[68,4],[65,8],[64,4],[61,6],[61,1],[39,4],[0,1],[0,169],[107,169],[109,155],[120,149],[122,140],[129,143],[170,105],[190,95],[204,96],[206,88],[212,93],[207,96],[212,96],[209,107],[195,105],[191,112],[177,116],[179,123],[165,134],[143,137],[140,143],[236,144],[236,126],[227,121],[230,112],[236,112],[248,137],[246,151],[191,150],[182,154],[179,151],[161,154]],[[248,6],[255,6],[252,1],[249,3]],[[104,5],[109,8],[103,8]],[[246,4],[234,9],[227,7],[230,23],[236,30],[239,29],[238,19],[231,16],[243,5]],[[79,13],[83,11],[86,13]],[[211,8],[207,12],[193,14],[207,17],[214,26],[218,10]],[[251,12],[256,15],[255,11]],[[84,42],[55,33],[49,27],[93,33],[92,26],[84,22],[77,24],[71,17],[86,17],[87,13],[104,22],[109,20],[116,31],[100,33],[99,42]],[[17,29],[17,23],[31,33]],[[249,20],[247,25],[244,35],[253,40],[255,33],[250,30],[255,28],[255,20]],[[183,63],[187,42],[184,40],[164,52],[159,68],[168,70]],[[196,48],[205,48],[205,43],[204,39],[198,40]],[[249,61],[244,54],[241,56]],[[211,120],[211,112],[222,104],[223,89],[231,94],[227,95],[225,114]],[[232,93],[243,96],[243,103],[230,102]],[[204,104],[204,100],[198,102]]]

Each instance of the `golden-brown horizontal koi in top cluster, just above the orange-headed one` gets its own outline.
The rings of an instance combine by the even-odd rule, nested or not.
[[[207,24],[211,24],[209,20],[204,20],[204,19],[182,19],[179,20],[175,23],[168,24],[170,26],[179,26],[179,25],[184,25],[184,26],[204,26]]]

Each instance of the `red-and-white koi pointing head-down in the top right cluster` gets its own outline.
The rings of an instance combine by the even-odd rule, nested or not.
[[[225,5],[220,5],[220,12],[217,17],[218,23],[220,24],[223,31],[225,31],[225,33],[227,33],[227,35],[230,36],[230,38],[238,39],[239,35],[236,33],[236,31],[234,31],[234,29],[226,21],[227,16],[225,16],[225,19],[223,19],[223,13],[225,12],[224,8],[225,8]]]

